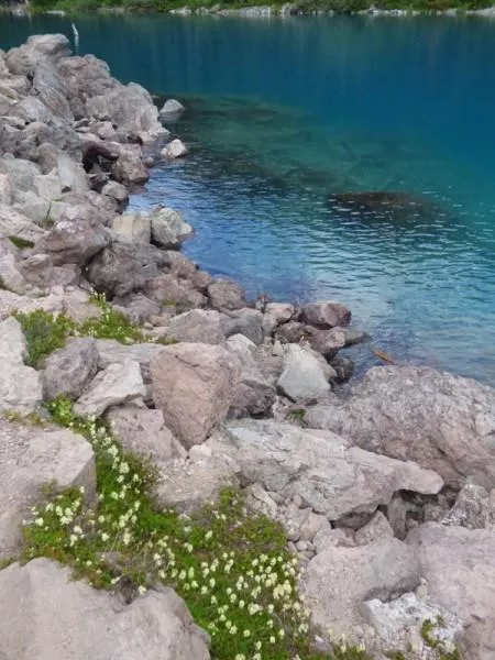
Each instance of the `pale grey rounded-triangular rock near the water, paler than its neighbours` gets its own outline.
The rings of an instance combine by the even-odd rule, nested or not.
[[[307,403],[330,392],[330,385],[318,360],[299,345],[287,346],[278,388],[293,402]]]

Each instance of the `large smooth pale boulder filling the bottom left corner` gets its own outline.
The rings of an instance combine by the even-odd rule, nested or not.
[[[0,572],[6,660],[208,660],[207,636],[170,588],[130,605],[74,582],[68,569],[35,559]],[[84,625],[81,625],[84,623]]]

